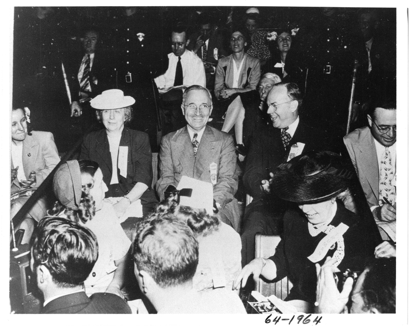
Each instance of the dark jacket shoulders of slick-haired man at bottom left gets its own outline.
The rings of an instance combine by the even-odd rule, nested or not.
[[[42,314],[132,314],[127,302],[110,293],[96,293],[87,297],[84,291],[59,297],[47,303]]]

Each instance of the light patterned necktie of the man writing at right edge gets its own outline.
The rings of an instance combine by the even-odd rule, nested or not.
[[[391,159],[391,153],[388,147],[385,147],[385,152],[381,159],[380,168],[380,199],[379,205],[382,206],[386,202],[384,197],[388,200],[391,205],[396,203],[396,192],[393,186],[394,181],[394,167],[393,160]]]

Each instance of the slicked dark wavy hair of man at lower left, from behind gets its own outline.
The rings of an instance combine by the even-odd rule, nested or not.
[[[97,261],[95,234],[65,218],[44,217],[33,238],[34,266],[44,265],[60,287],[81,285]]]

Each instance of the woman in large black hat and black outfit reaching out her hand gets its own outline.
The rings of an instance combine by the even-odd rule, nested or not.
[[[257,258],[245,266],[234,288],[246,285],[248,277],[260,275],[279,281],[288,277],[293,287],[286,301],[310,312],[315,302],[315,263],[327,256],[341,271],[361,271],[377,246],[364,220],[337,202],[351,184],[353,173],[342,157],[331,152],[309,152],[278,166],[271,189],[286,201],[297,203],[284,216],[284,232],[274,256]]]

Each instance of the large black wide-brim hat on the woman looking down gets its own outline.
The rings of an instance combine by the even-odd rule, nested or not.
[[[332,152],[308,152],[279,165],[271,190],[280,198],[300,204],[331,199],[351,185],[353,172]]]

